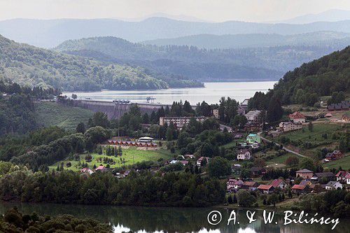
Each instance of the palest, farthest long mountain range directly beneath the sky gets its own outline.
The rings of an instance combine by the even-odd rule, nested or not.
[[[70,39],[116,36],[128,41],[148,41],[195,34],[303,34],[312,31],[350,33],[350,20],[310,24],[272,24],[256,22],[187,22],[165,17],[151,17],[141,22],[112,19],[28,20],[0,22],[0,34],[22,43],[53,48]]]

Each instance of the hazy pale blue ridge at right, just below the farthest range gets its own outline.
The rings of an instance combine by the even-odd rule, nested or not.
[[[199,48],[248,48],[268,47],[281,45],[330,45],[342,43],[350,44],[350,34],[336,31],[316,31],[307,34],[280,35],[280,34],[235,34],[213,35],[200,34],[178,38],[163,38],[153,41],[144,41],[150,45],[189,45]]]

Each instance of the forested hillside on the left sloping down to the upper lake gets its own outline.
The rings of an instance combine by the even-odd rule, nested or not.
[[[3,36],[0,36],[1,76],[24,86],[76,91],[146,90],[200,85],[181,76],[157,76],[138,66],[109,64],[92,58],[66,55],[15,43]]]

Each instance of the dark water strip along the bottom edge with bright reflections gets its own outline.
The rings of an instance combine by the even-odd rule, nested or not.
[[[246,210],[236,210],[239,224],[227,225],[231,210],[220,209],[223,220],[219,225],[209,225],[207,215],[212,209],[199,208],[169,208],[169,207],[132,207],[132,206],[82,206],[64,204],[0,204],[0,213],[6,209],[17,206],[23,213],[35,211],[41,215],[71,214],[78,218],[95,218],[103,223],[111,223],[116,233],[119,232],[276,232],[276,233],[326,233],[349,232],[348,220],[340,220],[335,230],[330,230],[331,225],[286,225],[283,226],[283,213],[276,213],[274,222],[265,225],[262,219],[262,211],[256,211],[253,223],[248,223]],[[253,211],[253,210],[251,210]],[[277,224],[276,224],[276,223]]]

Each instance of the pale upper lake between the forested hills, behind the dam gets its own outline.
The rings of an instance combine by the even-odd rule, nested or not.
[[[145,103],[147,97],[155,97],[155,103],[172,104],[174,101],[190,101],[197,104],[206,101],[208,104],[216,104],[221,97],[230,97],[241,102],[253,97],[255,92],[267,92],[276,82],[230,82],[230,83],[204,83],[204,87],[198,88],[169,88],[162,90],[133,90],[102,92],[76,92],[78,98],[90,98],[94,100],[112,101],[113,99],[128,99],[134,103]],[[64,92],[71,97],[72,92]]]

